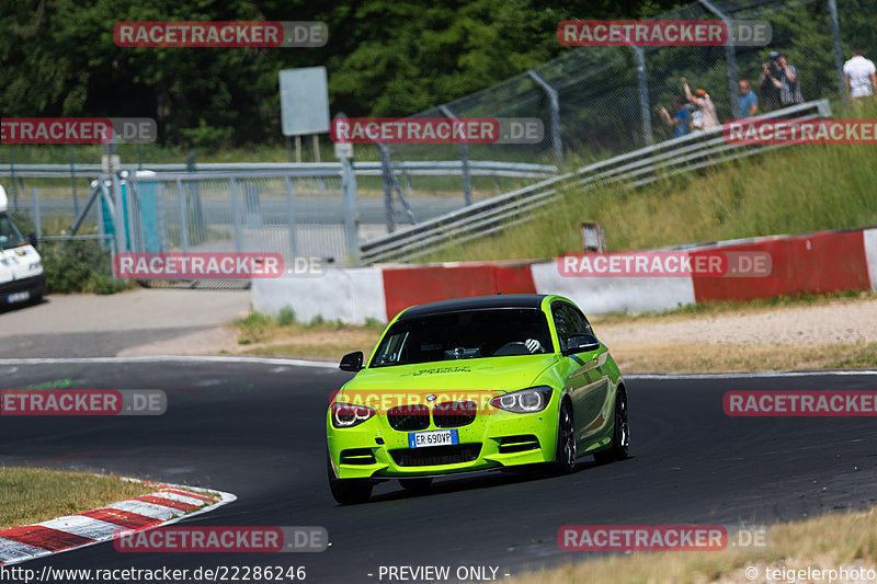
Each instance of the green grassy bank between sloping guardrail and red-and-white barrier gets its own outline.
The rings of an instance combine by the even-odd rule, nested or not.
[[[608,251],[874,225],[875,167],[877,148],[790,146],[638,188],[568,185],[534,219],[423,259],[556,257],[582,249],[584,221],[605,226]]]

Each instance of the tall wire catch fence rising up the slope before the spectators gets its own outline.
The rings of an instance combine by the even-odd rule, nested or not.
[[[772,42],[730,51],[724,46],[570,49],[532,71],[415,116],[538,117],[545,127],[540,142],[463,148],[395,145],[390,156],[392,160],[448,160],[455,156],[470,161],[561,159],[567,168],[604,160],[673,137],[673,128],[658,108],[673,112],[673,98],[683,96],[682,77],[687,78],[692,91],[704,89],[710,95],[720,122],[737,115],[738,80],[750,82],[761,103],[760,113],[781,107],[783,104],[767,102],[760,82],[773,50],[787,55],[798,69],[805,101],[828,98],[842,103],[845,96],[839,68],[851,57],[852,48],[862,46],[866,54],[877,54],[877,0],[836,1],[838,44],[833,41],[832,4],[832,0],[692,2],[656,20],[763,20],[771,23]]]

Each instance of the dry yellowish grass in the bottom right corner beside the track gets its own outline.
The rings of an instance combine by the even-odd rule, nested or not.
[[[877,565],[877,509],[824,515],[771,528],[766,549],[636,552],[569,563],[510,579],[510,584],[683,584],[771,582],[766,566],[832,569]],[[754,566],[759,576],[748,579]],[[773,580],[790,582],[789,580]],[[796,582],[804,582],[796,580]],[[810,582],[809,580],[807,582]],[[825,581],[827,582],[827,581]]]

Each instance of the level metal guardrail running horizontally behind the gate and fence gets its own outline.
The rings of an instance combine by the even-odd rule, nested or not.
[[[462,175],[464,163],[460,160],[449,161],[399,161],[391,162],[392,170],[397,173],[407,173],[412,176],[440,176]],[[557,167],[553,164],[531,164],[523,162],[493,162],[469,161],[469,173],[479,176],[503,176],[517,179],[544,179],[555,176]],[[15,164],[14,174],[22,179],[69,178],[70,164]],[[100,164],[75,164],[72,167],[77,176],[96,178],[104,174]],[[195,172],[190,172],[185,164],[146,164],[138,169],[137,164],[123,164],[121,170],[134,172],[136,170],[151,170],[156,172],[170,172],[185,174],[213,173],[214,175],[228,175],[247,172],[265,173],[277,176],[341,176],[341,162],[231,162],[231,163],[202,163]],[[357,175],[374,176],[381,174],[379,161],[363,161],[353,164]],[[12,175],[10,164],[0,164],[0,176]]]

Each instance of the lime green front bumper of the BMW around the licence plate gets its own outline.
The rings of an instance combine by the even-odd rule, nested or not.
[[[410,478],[549,462],[557,448],[554,394],[542,412],[515,414],[494,410],[457,426],[459,444],[410,448],[410,432],[395,430],[386,415],[357,426],[337,428],[327,413],[329,457],[339,479]],[[417,432],[447,430],[432,420]]]

